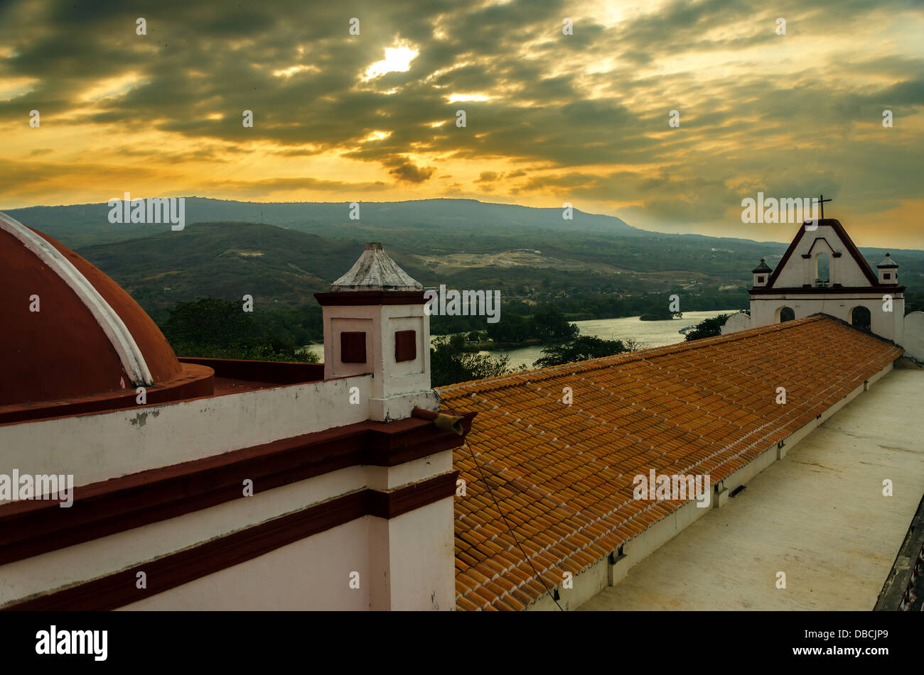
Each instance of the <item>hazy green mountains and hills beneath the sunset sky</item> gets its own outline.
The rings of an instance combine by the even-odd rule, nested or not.
[[[7,214],[78,251],[148,312],[201,296],[266,304],[313,303],[359,257],[385,245],[426,286],[502,290],[505,298],[687,289],[740,301],[761,257],[784,243],[664,234],[613,216],[562,218],[560,208],[471,199],[361,203],[261,203],[186,198],[187,226],[110,224],[106,204],[26,207]],[[795,228],[795,226],[793,226]],[[864,248],[875,265],[885,249]],[[921,288],[924,252],[889,249],[909,290]],[[732,305],[728,305],[732,306]]]

